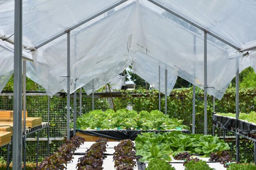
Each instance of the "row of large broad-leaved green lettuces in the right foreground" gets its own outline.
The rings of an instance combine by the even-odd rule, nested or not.
[[[218,137],[202,134],[184,134],[173,132],[145,132],[135,139],[136,155],[142,156],[139,161],[151,158],[162,158],[171,161],[170,155],[188,151],[191,154],[202,154],[207,157],[211,152],[229,150],[229,145]]]

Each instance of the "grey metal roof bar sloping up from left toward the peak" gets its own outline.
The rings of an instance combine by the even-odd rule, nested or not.
[[[92,19],[98,17],[99,15],[101,15],[101,14],[103,14],[103,13],[109,11],[110,9],[113,9],[113,8],[117,7],[118,5],[120,5],[120,4],[122,4],[122,3],[126,2],[126,1],[128,1],[128,0],[121,0],[120,2],[118,2],[118,3],[114,4],[114,5],[112,5],[111,7],[108,7],[107,9],[104,9],[103,11],[101,11],[101,12],[99,12],[99,13],[97,13],[97,14],[91,16],[90,18],[88,18],[88,19],[86,19],[86,20],[80,22],[79,24],[76,24],[76,25],[70,27],[69,29],[66,29],[66,30],[63,31],[63,32],[58,33],[57,35],[55,35],[54,37],[50,38],[49,40],[47,40],[47,41],[45,41],[45,42],[43,42],[43,43],[38,44],[37,46],[35,46],[35,49],[40,48],[41,46],[43,46],[43,45],[45,45],[45,44],[51,42],[52,40],[55,40],[56,38],[59,38],[61,35],[64,35],[65,33],[70,32],[70,31],[72,31],[73,29],[76,29],[77,27],[79,27],[79,26],[85,24],[86,22],[88,22],[88,21],[90,21],[90,20],[92,20]]]

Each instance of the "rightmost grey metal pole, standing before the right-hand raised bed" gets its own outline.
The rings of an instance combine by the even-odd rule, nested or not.
[[[239,117],[239,60],[236,60],[236,125],[237,125],[237,121],[238,121],[238,117]],[[236,133],[238,131],[236,130]],[[240,158],[240,146],[239,146],[239,135],[236,135],[236,161],[239,162]]]

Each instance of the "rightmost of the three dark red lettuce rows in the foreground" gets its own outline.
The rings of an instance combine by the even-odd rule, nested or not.
[[[115,152],[113,160],[117,170],[133,170],[136,166],[134,144],[130,139],[121,140],[120,143],[114,147]]]

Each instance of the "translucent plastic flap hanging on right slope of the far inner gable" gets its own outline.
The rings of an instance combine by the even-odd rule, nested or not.
[[[167,70],[167,95],[171,91],[177,80],[177,70],[142,52],[137,52],[132,57],[132,71],[143,78],[151,86],[159,89],[159,66],[160,66],[160,91],[165,94],[165,69]]]

